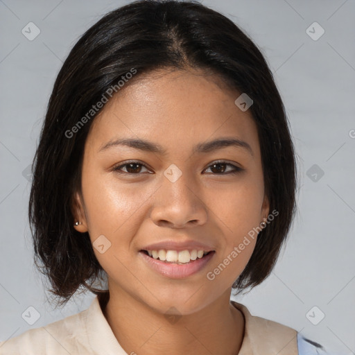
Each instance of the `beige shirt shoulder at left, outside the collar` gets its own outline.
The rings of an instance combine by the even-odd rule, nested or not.
[[[0,355],[67,355],[78,350],[89,354],[85,346],[86,316],[87,310],[2,341]]]

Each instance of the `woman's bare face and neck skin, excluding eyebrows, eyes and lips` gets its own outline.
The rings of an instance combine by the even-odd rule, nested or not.
[[[216,75],[160,69],[132,79],[92,123],[83,198],[76,194],[76,220],[83,224],[75,228],[89,231],[92,242],[103,234],[111,243],[103,254],[94,248],[108,275],[110,300],[103,313],[128,354],[235,355],[241,348],[244,318],[230,295],[257,238],[214,280],[206,277],[269,213],[257,125],[250,110],[236,107],[239,95]],[[117,137],[146,139],[167,153],[127,146],[98,152]],[[234,146],[192,152],[196,144],[221,137],[243,139],[252,154]],[[122,174],[112,170],[130,159],[143,165],[123,166]],[[227,164],[214,168],[218,159],[243,171],[230,174],[234,167]],[[171,164],[182,172],[175,182],[164,176]],[[208,243],[216,253],[194,275],[171,279],[139,256],[145,245],[168,239]],[[172,306],[182,315],[173,324],[165,316]]]

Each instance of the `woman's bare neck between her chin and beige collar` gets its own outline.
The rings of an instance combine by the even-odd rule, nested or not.
[[[101,309],[127,354],[236,355],[243,342],[245,322],[230,304],[230,289],[204,309],[183,316],[169,316],[112,292],[108,301],[101,297]]]

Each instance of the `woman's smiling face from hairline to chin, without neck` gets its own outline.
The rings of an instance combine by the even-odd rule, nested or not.
[[[89,232],[111,295],[182,314],[226,292],[229,299],[257,238],[239,245],[269,211],[257,126],[234,103],[239,95],[200,71],[156,71],[128,83],[95,118],[76,229]],[[210,144],[221,139],[244,143]],[[177,265],[142,252],[148,248],[173,257],[212,252]]]

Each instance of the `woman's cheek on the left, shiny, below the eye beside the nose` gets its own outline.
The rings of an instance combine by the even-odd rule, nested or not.
[[[124,184],[114,173],[83,174],[90,240],[98,263],[111,277],[127,272],[132,237],[144,221],[146,203],[154,191],[139,188],[139,184]]]

